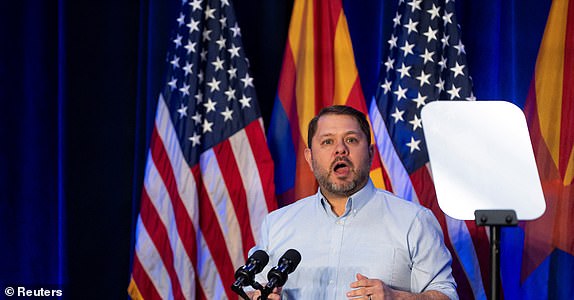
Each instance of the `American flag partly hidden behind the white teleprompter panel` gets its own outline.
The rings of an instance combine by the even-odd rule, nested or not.
[[[459,295],[485,299],[488,239],[484,228],[438,207],[421,121],[431,101],[475,100],[454,0],[399,1],[388,49],[369,115],[392,190],[434,212],[453,254]]]

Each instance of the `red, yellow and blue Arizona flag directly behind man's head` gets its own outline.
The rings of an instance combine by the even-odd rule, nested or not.
[[[321,108],[335,104],[367,114],[341,1],[295,0],[268,132],[279,206],[317,191],[303,155],[307,124]],[[378,156],[370,175],[376,186],[385,187]]]

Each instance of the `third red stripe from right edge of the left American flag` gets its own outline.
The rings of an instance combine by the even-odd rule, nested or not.
[[[203,178],[201,176],[201,171],[199,165],[195,165],[191,168],[191,172],[195,177],[195,184],[198,188],[199,196],[199,227],[201,232],[205,237],[207,247],[209,252],[211,252],[211,257],[217,268],[219,275],[221,276],[221,281],[223,282],[223,287],[225,288],[225,293],[227,297],[232,299],[235,296],[231,290],[231,285],[234,280],[234,270],[233,263],[229,257],[229,252],[227,251],[227,246],[225,245],[225,239],[223,233],[221,232],[221,227],[217,222],[217,215],[213,211],[213,206],[211,200],[209,199],[209,194],[205,189],[203,183]]]

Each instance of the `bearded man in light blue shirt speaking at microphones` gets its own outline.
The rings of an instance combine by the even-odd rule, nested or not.
[[[270,255],[260,282],[286,250],[301,253],[269,299],[457,299],[436,218],[373,186],[365,115],[348,106],[324,108],[309,123],[308,147],[319,191],[271,212],[252,249]]]

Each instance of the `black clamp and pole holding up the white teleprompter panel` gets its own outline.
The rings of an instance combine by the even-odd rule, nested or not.
[[[518,218],[513,209],[474,211],[478,226],[490,227],[490,299],[500,299],[500,230],[503,226],[518,225]]]

